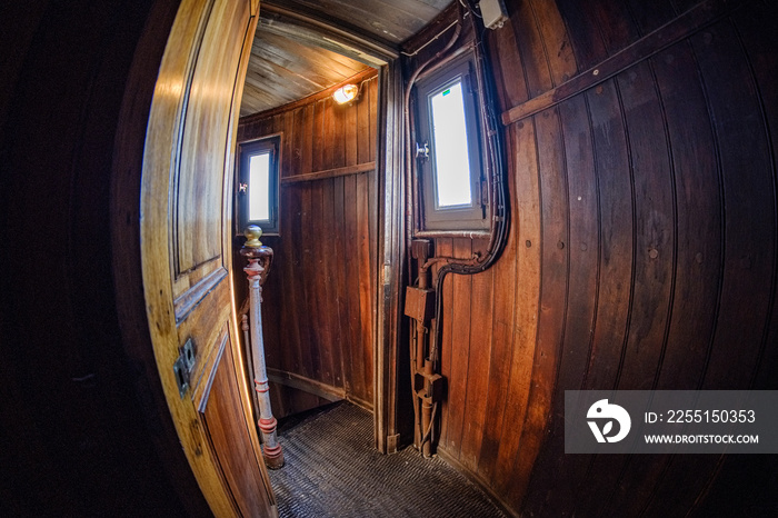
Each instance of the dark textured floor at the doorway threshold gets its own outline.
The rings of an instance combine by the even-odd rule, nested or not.
[[[270,479],[281,518],[505,517],[439,458],[372,447],[372,416],[339,402],[280,427],[287,464]]]

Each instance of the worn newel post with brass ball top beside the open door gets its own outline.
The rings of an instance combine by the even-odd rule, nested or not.
[[[278,469],[283,466],[283,451],[276,438],[276,418],[270,408],[270,386],[268,385],[268,369],[265,363],[265,341],[262,339],[262,283],[268,276],[272,262],[272,249],[266,247],[259,240],[262,230],[257,226],[250,226],[243,232],[246,245],[240,249],[240,255],[246,257],[249,266],[243,268],[249,278],[249,316],[250,316],[250,347],[253,357],[253,383],[259,401],[259,420],[257,425],[262,434],[265,464],[268,468]],[[246,322],[243,323],[246,331]]]

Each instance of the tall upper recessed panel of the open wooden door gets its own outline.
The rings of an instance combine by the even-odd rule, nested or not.
[[[222,197],[228,181],[219,175],[230,151],[232,93],[236,88],[249,4],[219,1],[200,41],[200,53],[190,70],[184,124],[173,190],[173,296],[180,298],[219,268],[222,260]],[[223,23],[216,23],[221,21]],[[232,23],[236,30],[225,30]],[[238,30],[242,27],[242,30]],[[221,52],[220,50],[227,50]],[[230,52],[229,49],[238,49]],[[197,150],[197,152],[191,152]],[[219,193],[219,196],[215,196]]]

